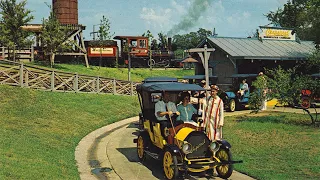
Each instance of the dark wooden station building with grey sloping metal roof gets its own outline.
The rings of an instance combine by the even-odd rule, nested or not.
[[[270,33],[270,32],[269,32]],[[258,74],[264,68],[294,67],[315,51],[312,41],[276,38],[208,37],[198,48],[214,48],[209,58],[209,76],[217,76],[222,87],[230,86],[233,74]],[[197,54],[193,54],[199,60]],[[196,75],[204,74],[199,60]]]

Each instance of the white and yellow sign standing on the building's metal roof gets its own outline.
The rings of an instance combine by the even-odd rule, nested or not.
[[[259,36],[262,39],[296,40],[296,34],[290,29],[261,27],[261,30]]]

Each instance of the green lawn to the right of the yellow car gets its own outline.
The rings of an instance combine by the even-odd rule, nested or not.
[[[227,117],[224,138],[235,168],[257,179],[319,179],[320,131],[306,114]]]

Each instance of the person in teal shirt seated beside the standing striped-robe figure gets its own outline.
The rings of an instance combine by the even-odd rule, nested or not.
[[[182,92],[181,93],[182,103],[177,106],[177,110],[180,113],[180,116],[177,117],[177,120],[183,121],[184,123],[191,123],[197,125],[192,117],[197,114],[197,110],[192,104],[190,104],[190,93]]]

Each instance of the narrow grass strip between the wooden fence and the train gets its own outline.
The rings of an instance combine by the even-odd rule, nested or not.
[[[79,74],[128,80],[128,68],[107,68],[98,66],[86,68],[84,65],[74,64],[56,64],[54,68],[66,72],[77,72]],[[132,68],[130,72],[131,80],[134,82],[141,82],[143,79],[153,76],[182,78],[183,76],[194,75],[194,69],[154,68],[150,70],[148,68]]]

